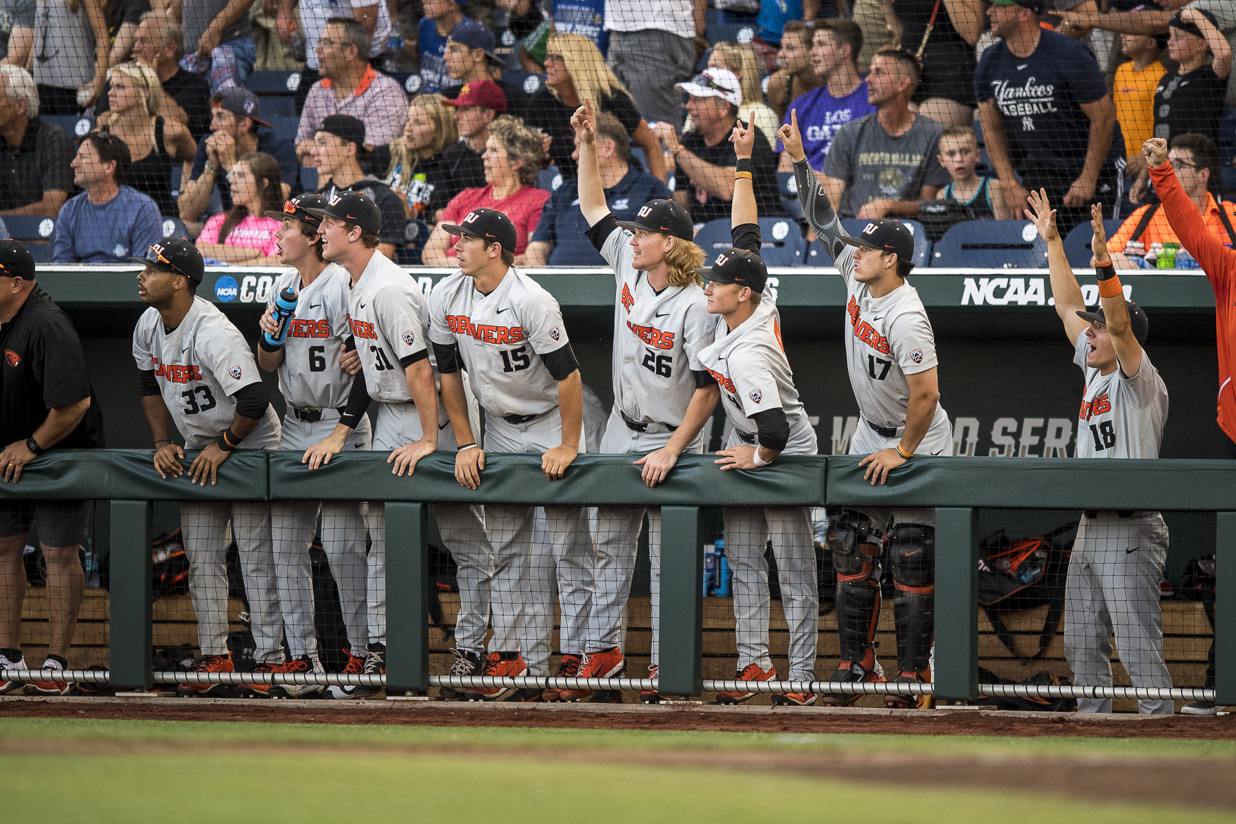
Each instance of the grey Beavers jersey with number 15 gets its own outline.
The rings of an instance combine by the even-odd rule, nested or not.
[[[429,336],[459,343],[481,408],[496,418],[540,415],[557,406],[557,380],[541,362],[570,341],[554,295],[510,267],[498,288],[481,294],[462,272],[429,295]]]

